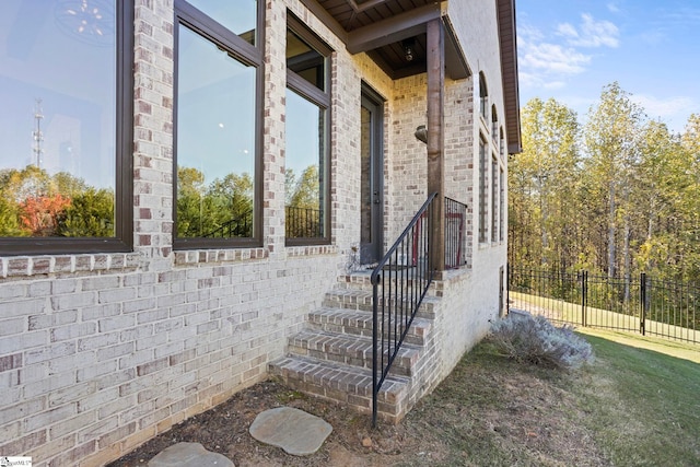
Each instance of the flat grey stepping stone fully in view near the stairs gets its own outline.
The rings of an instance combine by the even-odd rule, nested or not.
[[[303,410],[278,407],[259,413],[248,431],[261,443],[281,447],[294,456],[306,456],[318,451],[332,427]]]

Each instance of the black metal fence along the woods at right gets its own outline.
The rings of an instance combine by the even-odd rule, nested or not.
[[[509,308],[573,325],[700,343],[700,287],[509,266]]]

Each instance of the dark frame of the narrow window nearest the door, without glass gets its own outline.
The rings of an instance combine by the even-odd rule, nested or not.
[[[325,77],[324,89],[316,87],[294,71],[287,69],[287,83],[285,89],[295,93],[302,98],[307,100],[314,105],[322,107],[326,113],[324,119],[324,235],[318,237],[288,237],[284,235],[285,246],[307,246],[307,245],[328,245],[331,242],[330,232],[330,218],[331,218],[331,203],[330,203],[330,184],[331,184],[331,171],[330,171],[330,144],[332,128],[332,112],[331,112],[331,82],[330,82],[330,68],[331,68],[331,55],[332,49],[323,39],[316,36],[310,31],[304,23],[298,19],[290,11],[287,12],[287,28],[292,31],[301,39],[305,40],[311,47],[313,47],[318,54],[320,54],[325,60]],[[287,222],[287,220],[285,220]]]

